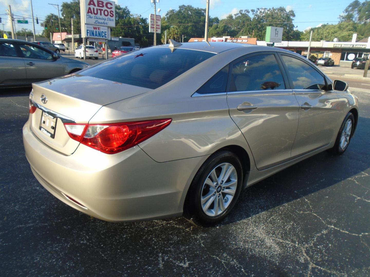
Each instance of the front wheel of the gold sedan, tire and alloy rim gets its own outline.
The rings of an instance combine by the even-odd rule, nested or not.
[[[329,149],[331,153],[342,155],[348,148],[354,130],[354,116],[353,113],[347,113],[342,125],[340,126],[334,147]]]

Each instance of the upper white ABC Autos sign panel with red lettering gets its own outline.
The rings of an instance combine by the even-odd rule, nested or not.
[[[115,3],[105,0],[80,0],[81,19],[84,24],[115,27]],[[81,20],[81,23],[82,20]]]

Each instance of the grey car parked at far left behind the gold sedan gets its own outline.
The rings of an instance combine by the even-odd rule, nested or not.
[[[0,88],[30,86],[87,66],[85,62],[61,57],[33,42],[0,38]]]

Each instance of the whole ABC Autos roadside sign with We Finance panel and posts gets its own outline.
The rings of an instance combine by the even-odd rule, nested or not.
[[[105,59],[108,59],[107,42],[111,39],[110,27],[115,27],[115,2],[80,0],[80,14],[81,35],[84,40],[84,59],[86,59],[86,38],[105,41]]]

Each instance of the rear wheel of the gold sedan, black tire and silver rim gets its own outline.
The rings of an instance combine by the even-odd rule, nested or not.
[[[222,179],[221,174],[229,176]],[[212,154],[199,168],[190,185],[184,217],[199,226],[220,222],[238,200],[242,184],[243,170],[238,157],[228,150]]]

